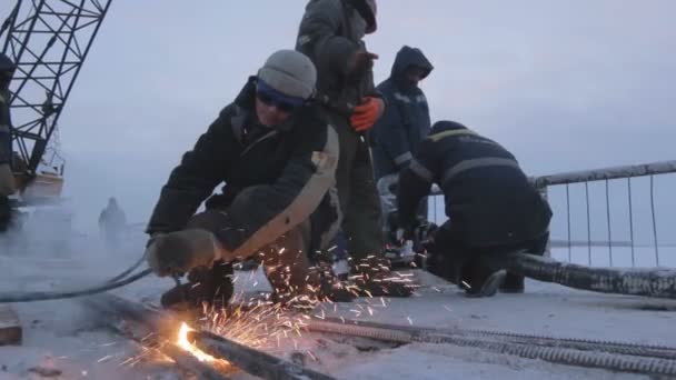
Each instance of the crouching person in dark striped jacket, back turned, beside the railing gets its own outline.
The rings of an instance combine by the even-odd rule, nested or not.
[[[543,254],[551,210],[514,156],[463,124],[439,121],[399,176],[398,224],[408,234],[433,183],[444,192],[449,220],[430,233],[426,269],[471,297],[498,288],[523,292],[524,278],[506,273],[495,258],[517,250]]]

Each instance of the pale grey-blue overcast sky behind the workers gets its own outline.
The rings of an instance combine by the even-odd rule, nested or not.
[[[294,47],[305,4],[113,1],[60,119],[78,227],[110,196],[146,221],[247,76]],[[377,82],[402,44],[422,49],[433,120],[466,123],[545,174],[676,158],[674,14],[670,0],[386,0],[367,44]]]

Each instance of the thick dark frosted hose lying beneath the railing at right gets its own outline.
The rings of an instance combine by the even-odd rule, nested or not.
[[[676,299],[674,269],[592,268],[528,253],[511,253],[500,261],[500,266],[511,272],[569,288]]]

